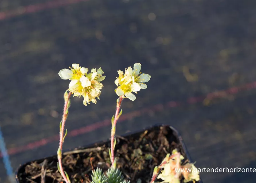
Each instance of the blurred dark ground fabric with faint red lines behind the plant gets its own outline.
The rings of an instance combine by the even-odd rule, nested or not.
[[[123,102],[128,118],[117,134],[169,124],[198,168],[256,168],[255,9],[254,0],[1,0],[0,125],[13,169],[56,154],[69,84],[60,69],[80,63],[106,75],[96,105],[71,98],[69,149],[110,137],[102,121],[115,112],[117,70],[137,62],[152,77]],[[144,113],[132,117],[136,110]],[[256,175],[201,177],[250,183]]]

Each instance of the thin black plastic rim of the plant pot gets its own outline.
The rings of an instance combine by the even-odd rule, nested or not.
[[[189,162],[193,162],[190,155],[189,155],[189,152],[185,146],[185,143],[181,137],[181,135],[179,134],[179,132],[173,128],[172,126],[166,126],[166,125],[155,125],[155,126],[151,126],[149,128],[145,128],[143,130],[140,130],[139,132],[133,132],[133,133],[128,133],[124,136],[124,138],[128,138],[128,137],[131,137],[131,136],[136,136],[136,134],[140,134],[141,132],[144,132],[145,130],[153,130],[154,128],[160,128],[161,126],[165,126],[165,127],[169,127],[171,130],[170,132],[173,133],[173,136],[175,136],[176,138],[176,141],[181,144],[181,154],[185,154],[185,158],[189,161]],[[76,148],[75,150],[69,150],[69,151],[66,151],[63,153],[63,155],[65,154],[76,154],[76,153],[79,153],[80,151],[83,151],[83,150],[86,150],[86,149],[91,149],[91,148],[96,148],[98,146],[102,146],[102,145],[105,145],[105,144],[108,144],[110,143],[109,140],[107,141],[101,141],[99,143],[94,143],[94,144],[91,144],[91,145],[88,145],[88,146],[85,146],[85,147],[80,147],[80,148]],[[183,152],[183,153],[182,153]],[[48,159],[48,160],[53,160],[53,159],[57,159],[57,155],[54,155],[54,156],[50,156],[50,157],[46,157],[46,158],[42,158],[42,159],[39,159],[39,160],[34,160],[36,162],[44,162],[45,159]],[[33,162],[34,162],[33,161]],[[28,164],[31,164],[32,161],[30,162],[26,162],[24,164],[21,164],[19,166],[19,168],[17,168],[17,171],[15,172],[15,178],[16,178],[16,181],[17,183],[24,183],[24,181],[21,180],[21,177],[19,175],[22,174],[22,172],[25,172],[25,167],[28,165]],[[198,182],[196,183],[203,183],[202,180],[200,179]]]

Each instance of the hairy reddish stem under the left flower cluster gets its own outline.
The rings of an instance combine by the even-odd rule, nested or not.
[[[63,110],[63,115],[62,115],[62,124],[61,124],[61,130],[60,130],[60,150],[62,151],[62,145],[63,145],[63,135],[64,135],[64,126],[65,126],[65,122],[67,120],[67,110],[68,110],[68,102],[69,99],[72,95],[72,92],[69,92],[69,95],[67,96],[67,98],[65,99],[65,104],[64,104],[64,110]],[[62,177],[64,178],[66,183],[69,183],[70,181],[68,180],[67,176],[64,173],[63,167],[62,167],[62,155],[61,153],[58,153],[58,162],[59,162],[59,167],[60,167],[60,174],[62,175]]]

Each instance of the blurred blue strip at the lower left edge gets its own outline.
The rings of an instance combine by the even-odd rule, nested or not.
[[[11,162],[10,162],[10,159],[9,159],[9,155],[7,153],[7,149],[6,149],[6,146],[5,146],[5,142],[3,140],[3,134],[2,134],[2,131],[1,131],[1,127],[0,127],[0,150],[1,150],[1,153],[3,155],[3,164],[5,166],[6,173],[9,177],[9,180],[11,181],[11,183],[13,183],[13,182],[15,182],[15,178],[14,178],[14,174],[13,174],[13,169],[11,167]]]

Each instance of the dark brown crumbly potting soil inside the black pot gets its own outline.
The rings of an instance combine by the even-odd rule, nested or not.
[[[167,153],[177,148],[185,157],[183,164],[188,162],[187,156],[179,144],[177,137],[168,127],[154,127],[127,137],[116,136],[115,157],[117,166],[124,178],[130,182],[150,182],[153,169],[159,165]],[[89,182],[91,180],[91,163],[93,168],[107,171],[111,166],[109,156],[110,142],[95,144],[92,148],[79,149],[63,153],[62,163],[72,183]],[[45,183],[64,181],[57,168],[57,156],[30,162],[22,166],[17,177],[20,183],[41,183],[45,174]],[[183,183],[183,181],[181,181]]]

